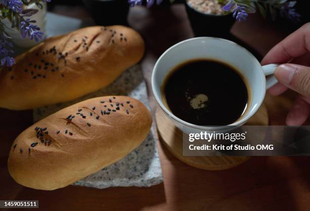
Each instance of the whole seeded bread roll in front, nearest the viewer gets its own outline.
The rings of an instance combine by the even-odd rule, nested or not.
[[[149,133],[151,121],[149,110],[130,97],[99,97],[74,104],[16,138],[9,172],[26,187],[65,187],[137,148]]]

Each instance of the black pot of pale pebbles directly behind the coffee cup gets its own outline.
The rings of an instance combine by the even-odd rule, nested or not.
[[[201,13],[185,2],[187,16],[195,36],[226,37],[236,19],[231,14],[211,15]]]

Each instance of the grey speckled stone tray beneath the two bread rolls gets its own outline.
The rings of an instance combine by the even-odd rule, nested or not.
[[[126,95],[140,100],[149,108],[146,84],[139,65],[126,70],[110,86],[68,103],[46,106],[33,110],[34,122],[74,103],[109,95]],[[163,181],[162,168],[154,137],[154,126],[144,142],[122,160],[103,168],[73,185],[95,188],[115,186],[152,186]]]

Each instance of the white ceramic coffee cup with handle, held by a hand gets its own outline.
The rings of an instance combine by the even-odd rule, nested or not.
[[[250,92],[248,108],[237,121],[229,125],[200,126],[191,124],[175,116],[164,105],[161,90],[168,73],[181,63],[201,58],[227,63],[235,67],[246,80]],[[177,128],[184,133],[225,131],[244,124],[257,112],[264,100],[266,89],[277,83],[277,79],[273,75],[277,66],[277,64],[261,66],[258,60],[248,50],[232,41],[215,37],[196,37],[181,41],[163,53],[153,68],[151,87],[161,109],[173,120]],[[267,79],[266,76],[268,76]],[[229,109],[229,104],[231,103],[234,102],[227,103],[227,109]]]

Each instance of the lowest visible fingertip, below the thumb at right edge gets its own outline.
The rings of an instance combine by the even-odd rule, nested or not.
[[[309,114],[310,105],[305,101],[303,96],[298,96],[287,115],[286,124],[290,126],[301,125],[307,120]]]

